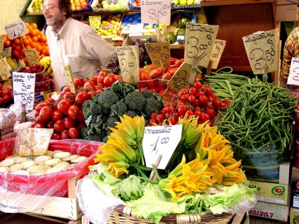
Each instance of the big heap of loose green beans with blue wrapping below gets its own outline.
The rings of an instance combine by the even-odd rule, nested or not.
[[[249,80],[217,123],[233,144],[248,179],[277,182],[279,165],[288,161],[296,101],[283,87]]]

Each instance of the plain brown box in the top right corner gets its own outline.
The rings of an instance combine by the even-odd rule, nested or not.
[[[298,18],[298,4],[276,5],[276,21],[297,21]]]

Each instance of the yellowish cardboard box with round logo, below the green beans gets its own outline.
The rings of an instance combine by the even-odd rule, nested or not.
[[[250,188],[257,188],[255,197],[257,201],[287,205],[288,204],[288,185],[248,181]]]

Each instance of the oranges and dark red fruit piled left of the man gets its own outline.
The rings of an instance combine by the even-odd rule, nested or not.
[[[49,56],[49,47],[47,45],[47,38],[44,32],[37,28],[36,23],[25,23],[28,34],[22,35],[20,38],[10,39],[8,35],[1,35],[4,37],[4,48],[11,47],[11,57],[16,59],[16,62],[23,60],[26,66],[30,66],[28,59],[25,57],[23,48],[37,49],[39,61],[44,56]]]

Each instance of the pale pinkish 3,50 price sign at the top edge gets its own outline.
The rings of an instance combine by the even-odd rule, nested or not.
[[[157,20],[161,24],[170,24],[171,1],[169,0],[141,0],[141,23],[154,24]]]

